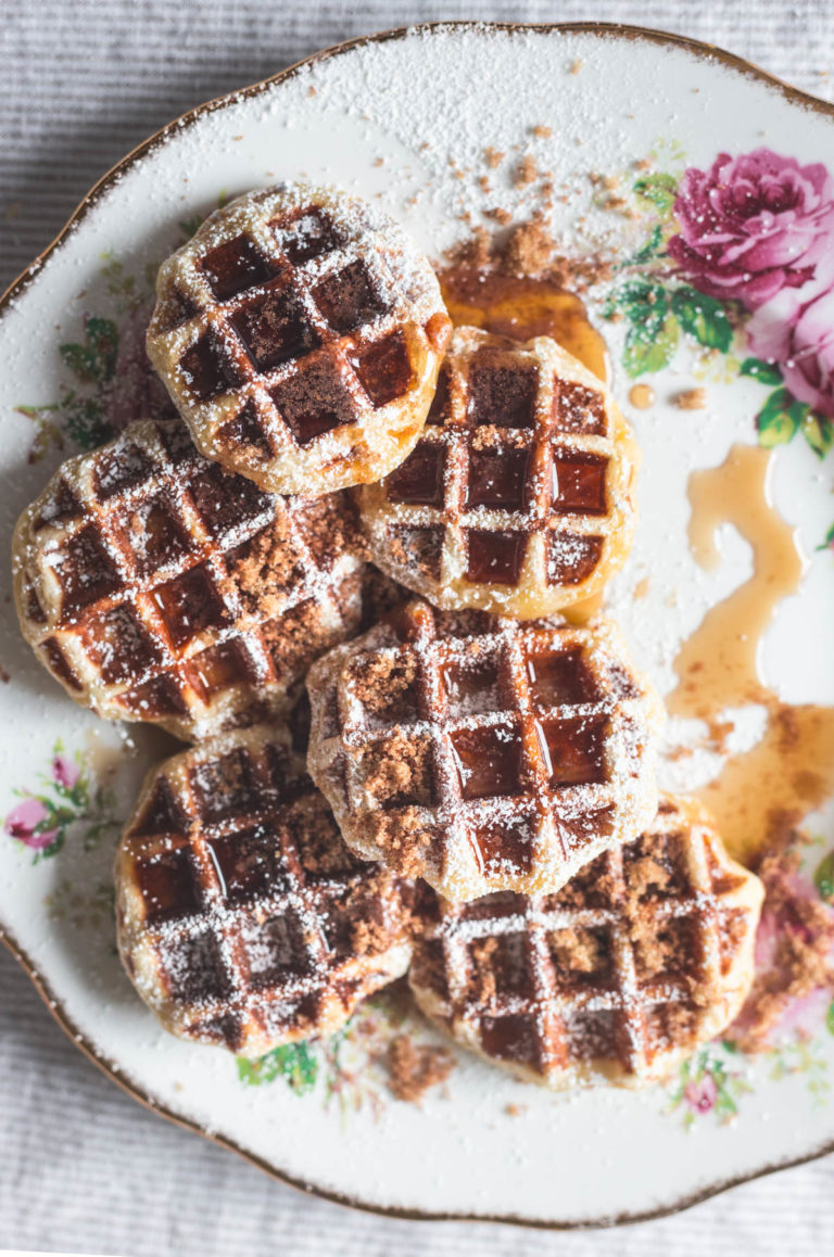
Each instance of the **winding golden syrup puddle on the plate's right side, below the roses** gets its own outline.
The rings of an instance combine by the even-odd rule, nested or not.
[[[834,793],[834,708],[782,703],[760,672],[764,635],[805,571],[796,534],[772,504],[771,459],[769,450],[733,445],[720,466],[689,478],[696,561],[718,567],[716,533],[728,523],[752,547],[753,572],[684,641],[674,661],[678,685],[667,699],[670,715],[702,719],[722,732],[718,716],[727,708],[766,710],[760,742],[731,754],[696,792],[731,854],[747,861]]]

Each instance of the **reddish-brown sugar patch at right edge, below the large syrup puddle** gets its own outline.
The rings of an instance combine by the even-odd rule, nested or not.
[[[775,935],[770,962],[756,973],[752,991],[730,1037],[746,1052],[762,1051],[787,1006],[815,991],[834,991],[834,911],[798,887],[801,848],[809,842],[791,817],[774,817],[774,841],[753,872],[765,884],[762,926]],[[801,886],[801,884],[800,884]]]

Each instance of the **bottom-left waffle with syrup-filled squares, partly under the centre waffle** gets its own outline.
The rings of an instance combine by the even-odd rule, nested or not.
[[[263,1056],[405,973],[410,887],[353,859],[286,730],[153,769],[116,857],[118,945],[166,1029]]]

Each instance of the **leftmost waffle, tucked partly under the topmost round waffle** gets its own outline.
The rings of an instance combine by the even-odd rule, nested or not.
[[[20,517],[20,623],[78,703],[208,737],[282,710],[311,659],[359,630],[357,533],[343,494],[265,494],[179,420],[132,424]]]

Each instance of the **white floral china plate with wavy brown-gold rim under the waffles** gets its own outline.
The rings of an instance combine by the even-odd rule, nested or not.
[[[728,527],[718,566],[696,562],[689,474],[733,442],[770,447],[775,505],[805,567],[760,661],[784,701],[834,704],[823,627],[834,610],[834,111],[649,31],[463,24],[359,40],[195,111],[126,158],[4,299],[5,544],[62,458],[162,405],[141,353],[160,259],[219,200],[302,172],[379,196],[434,258],[472,225],[538,212],[574,264],[601,259],[585,299],[615,390],[625,403],[638,381],[655,397],[626,407],[643,447],[642,525],[610,610],[670,691],[681,644],[751,572]],[[4,936],[78,1045],[137,1099],[284,1179],[413,1217],[603,1224],[834,1146],[824,985],[764,1052],[713,1043],[645,1094],[550,1095],[458,1055],[445,1082],[404,1102],[387,1086],[387,1045],[439,1040],[392,997],[327,1043],[257,1062],[170,1038],[121,970],[111,864],[142,772],[171,743],[75,708],[21,641],[9,597],[1,613]],[[755,742],[761,704],[757,727],[745,711]],[[704,749],[698,720],[670,722],[663,783],[702,786],[745,719],[730,723],[730,750]],[[816,758],[798,779],[819,787],[830,764]],[[809,789],[819,804],[826,791]],[[834,889],[830,806],[806,823],[816,880],[795,880],[819,906]]]

